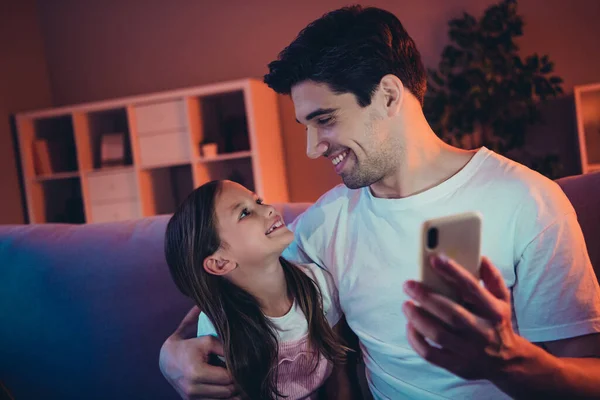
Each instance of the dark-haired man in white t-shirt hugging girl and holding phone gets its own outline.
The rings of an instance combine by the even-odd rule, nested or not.
[[[539,174],[435,135],[425,69],[394,15],[333,11],[269,68],[265,82],[291,94],[306,125],[309,157],[329,158],[345,184],[294,222],[284,256],[333,275],[375,398],[600,397],[600,290],[572,206]],[[419,233],[471,210],[483,215],[485,286],[431,260],[463,307],[416,282]],[[230,396],[226,371],[206,364],[218,342],[182,329],[161,351],[167,379],[183,397]]]

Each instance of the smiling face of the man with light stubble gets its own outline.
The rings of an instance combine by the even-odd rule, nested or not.
[[[346,186],[372,185],[394,173],[401,146],[390,134],[382,96],[361,107],[354,94],[313,81],[295,85],[291,95],[296,119],[306,125],[307,155],[331,160]]]

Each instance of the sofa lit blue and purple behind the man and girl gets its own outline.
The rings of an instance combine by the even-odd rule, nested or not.
[[[557,182],[598,275],[600,173]],[[307,206],[278,207],[289,222]],[[192,306],[164,260],[168,218],[0,226],[0,398],[179,398],[158,368]]]

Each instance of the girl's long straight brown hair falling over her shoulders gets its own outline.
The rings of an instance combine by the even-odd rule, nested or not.
[[[221,246],[215,200],[220,181],[209,182],[181,204],[165,234],[165,256],[179,290],[192,298],[214,324],[234,383],[250,399],[275,399],[277,334],[256,298],[227,279],[207,273],[204,259]],[[306,316],[308,339],[315,354],[340,363],[346,348],[323,314],[321,292],[298,267],[280,258],[288,290]]]

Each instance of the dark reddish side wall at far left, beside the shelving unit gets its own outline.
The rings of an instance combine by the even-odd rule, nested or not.
[[[0,224],[24,222],[10,115],[50,104],[35,0],[0,0]]]

